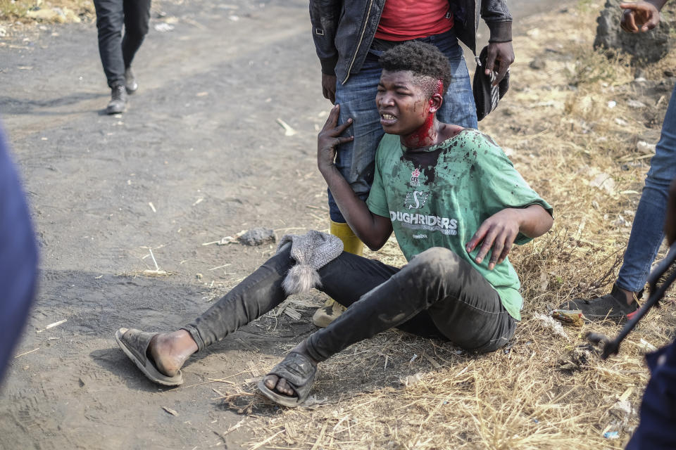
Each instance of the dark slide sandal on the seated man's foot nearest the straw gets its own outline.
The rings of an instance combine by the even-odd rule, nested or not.
[[[287,380],[289,386],[296,392],[296,397],[289,397],[288,395],[271,390],[265,386],[265,378],[258,382],[258,389],[261,390],[268,399],[275,401],[282,406],[295,408],[308,398],[316,373],[317,366],[315,366],[307,356],[291,352],[282,360],[282,362],[280,362],[280,364],[273,367],[273,370],[270,371],[268,375],[277,375],[277,377]],[[268,375],[265,376],[267,377]]]

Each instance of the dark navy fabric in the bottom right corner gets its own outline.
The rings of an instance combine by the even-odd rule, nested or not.
[[[672,98],[673,99],[673,98]],[[676,342],[647,354],[651,377],[627,450],[676,449]]]

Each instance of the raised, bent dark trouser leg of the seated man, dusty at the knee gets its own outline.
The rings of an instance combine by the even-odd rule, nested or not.
[[[334,265],[325,266],[320,275],[325,292],[344,301],[340,293],[345,277]],[[313,333],[307,340],[308,353],[324,361],[381,331],[419,320],[423,311],[446,338],[480,352],[505,345],[516,326],[479,272],[450,250],[432,248],[365,293],[330,326]]]

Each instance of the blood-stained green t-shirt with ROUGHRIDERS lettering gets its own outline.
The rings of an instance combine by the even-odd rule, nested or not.
[[[489,255],[477,264],[480,245],[465,245],[485,219],[509,207],[551,206],[528,186],[502,149],[487,135],[464,129],[424,151],[407,151],[399,136],[385,134],[375,157],[375,179],[366,202],[373,214],[392,220],[407,260],[444,247],[467,260],[497,291],[505,309],[520,320],[523,299],[509,259],[488,269]],[[530,238],[519,233],[515,243]]]

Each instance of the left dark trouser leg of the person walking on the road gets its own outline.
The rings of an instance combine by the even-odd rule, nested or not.
[[[94,0],[96,28],[99,30],[99,54],[108,86],[125,84],[122,55],[122,26],[125,21],[123,0]]]

